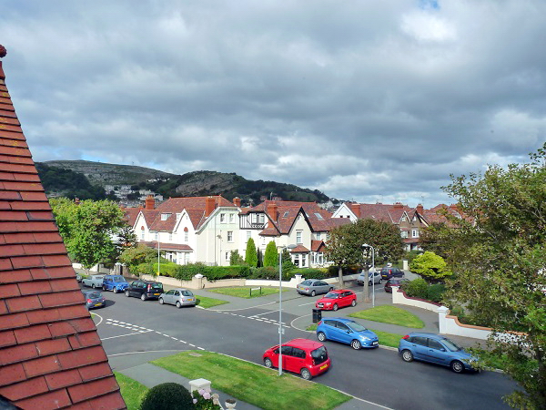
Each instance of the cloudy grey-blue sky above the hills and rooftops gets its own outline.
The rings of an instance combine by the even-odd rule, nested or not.
[[[0,0],[36,161],[455,200],[546,141],[543,0]]]

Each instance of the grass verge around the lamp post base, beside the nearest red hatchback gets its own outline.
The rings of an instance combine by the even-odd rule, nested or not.
[[[350,399],[323,384],[258,364],[203,351],[189,351],[152,362],[189,379],[205,378],[227,395],[263,409],[333,409]]]

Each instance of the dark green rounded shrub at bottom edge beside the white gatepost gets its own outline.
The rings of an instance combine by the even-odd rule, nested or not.
[[[182,384],[157,384],[148,390],[141,410],[186,410],[193,409],[193,398]]]

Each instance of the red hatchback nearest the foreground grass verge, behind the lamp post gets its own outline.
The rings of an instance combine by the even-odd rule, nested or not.
[[[282,344],[282,368],[298,373],[306,380],[326,372],[330,365],[324,344],[308,339],[294,339]],[[278,367],[278,344],[263,354],[266,367]]]

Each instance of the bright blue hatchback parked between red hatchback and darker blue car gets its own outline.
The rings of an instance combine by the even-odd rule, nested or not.
[[[360,323],[344,317],[332,317],[320,321],[317,326],[317,337],[320,342],[333,340],[350,344],[355,350],[362,347],[379,347],[379,338],[376,333],[366,329]]]

